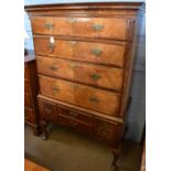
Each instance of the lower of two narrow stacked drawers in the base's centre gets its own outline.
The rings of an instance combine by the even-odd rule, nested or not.
[[[82,122],[75,119],[71,119],[70,117],[58,115],[58,124],[62,126],[67,126],[74,128],[77,131],[92,132],[92,125]]]

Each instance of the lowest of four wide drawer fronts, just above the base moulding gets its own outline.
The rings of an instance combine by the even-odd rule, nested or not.
[[[39,76],[40,93],[87,109],[118,116],[120,95],[72,82]]]

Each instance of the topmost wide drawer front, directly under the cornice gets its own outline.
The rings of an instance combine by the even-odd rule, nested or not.
[[[31,22],[34,34],[127,40],[126,18],[32,17]]]

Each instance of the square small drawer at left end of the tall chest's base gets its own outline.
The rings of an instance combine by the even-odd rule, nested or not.
[[[55,124],[57,122],[57,110],[55,104],[39,99],[39,106],[41,110],[41,117],[43,119],[50,120]]]

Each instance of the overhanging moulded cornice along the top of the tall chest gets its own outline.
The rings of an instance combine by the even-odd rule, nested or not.
[[[55,10],[55,9],[142,9],[145,2],[79,2],[79,3],[51,3],[25,6],[25,11]]]

